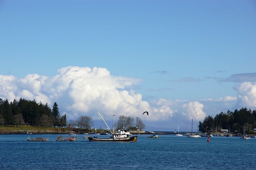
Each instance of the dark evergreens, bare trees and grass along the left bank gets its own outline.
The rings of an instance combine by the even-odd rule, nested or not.
[[[66,114],[63,116],[60,115],[56,102],[54,102],[51,109],[48,103],[36,103],[35,100],[31,101],[20,98],[19,101],[14,99],[9,103],[7,99],[0,99],[0,130],[28,130],[28,128],[31,130],[31,127],[38,130],[43,127],[53,129],[50,131],[55,131],[57,127],[67,127],[71,125],[89,131],[94,125],[90,116],[80,116],[77,120],[70,120],[69,123],[67,123],[66,119]],[[117,126],[115,128],[132,127],[134,125],[140,130],[145,128],[145,124],[139,117],[134,119],[133,117],[122,115],[118,117]]]

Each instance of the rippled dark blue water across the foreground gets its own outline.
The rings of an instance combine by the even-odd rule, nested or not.
[[[28,136],[49,141],[28,142]],[[0,169],[255,169],[256,138],[214,136],[207,142],[138,135],[137,142],[122,143],[90,142],[83,135],[75,142],[56,142],[57,136],[0,135]]]

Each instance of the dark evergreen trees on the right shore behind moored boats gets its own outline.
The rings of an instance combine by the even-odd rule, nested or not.
[[[243,133],[243,127],[246,127],[246,133],[250,133],[256,127],[256,110],[241,108],[239,111],[227,111],[212,116],[205,117],[204,121],[199,121],[198,129],[200,132],[220,132],[221,129],[227,129],[231,132]]]

